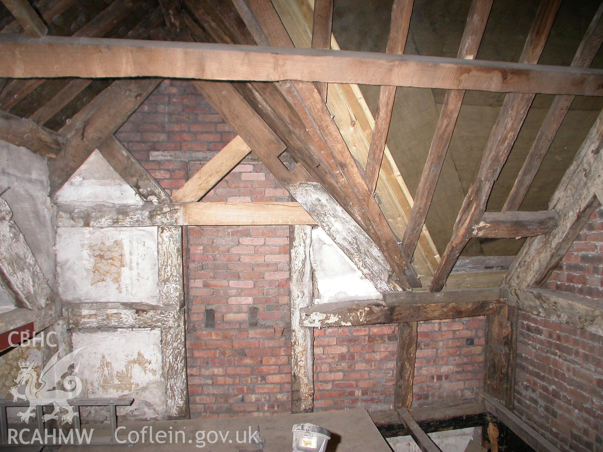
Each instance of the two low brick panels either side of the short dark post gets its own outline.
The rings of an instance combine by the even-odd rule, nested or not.
[[[397,325],[314,330],[317,410],[394,403]],[[484,380],[485,318],[419,322],[413,404],[472,399]]]

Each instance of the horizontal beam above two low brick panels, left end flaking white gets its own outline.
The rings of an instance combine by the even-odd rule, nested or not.
[[[473,317],[493,313],[499,298],[499,287],[387,292],[385,300],[340,301],[301,308],[301,324],[323,328]]]

